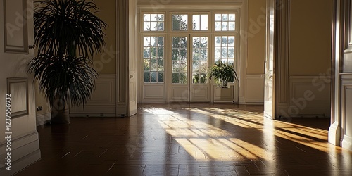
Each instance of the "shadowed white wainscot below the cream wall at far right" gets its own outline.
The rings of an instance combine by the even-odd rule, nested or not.
[[[318,76],[290,77],[289,107],[291,117],[329,117],[330,83]]]

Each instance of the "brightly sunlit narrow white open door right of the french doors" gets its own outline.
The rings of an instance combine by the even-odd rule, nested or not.
[[[267,1],[264,115],[275,118],[275,1]]]

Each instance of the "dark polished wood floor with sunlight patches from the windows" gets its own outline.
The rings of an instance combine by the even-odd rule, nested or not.
[[[17,175],[352,175],[328,118],[263,118],[263,106],[139,104],[131,118],[38,127],[42,159]]]

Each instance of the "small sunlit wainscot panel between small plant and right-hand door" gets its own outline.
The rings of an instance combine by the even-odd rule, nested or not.
[[[264,75],[246,75],[246,103],[263,104]]]

